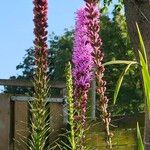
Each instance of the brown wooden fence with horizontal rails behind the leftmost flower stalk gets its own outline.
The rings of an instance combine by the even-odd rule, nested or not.
[[[0,85],[32,87],[31,82],[0,79]],[[66,123],[65,85],[52,83],[52,88],[60,89],[56,98],[48,98],[51,127],[55,132]],[[23,150],[29,131],[29,106],[31,97],[25,95],[0,94],[0,150]]]

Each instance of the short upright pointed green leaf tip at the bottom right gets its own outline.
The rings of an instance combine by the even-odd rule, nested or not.
[[[139,124],[137,122],[137,144],[138,144],[138,150],[144,150],[144,145],[141,137],[141,132],[139,128]]]

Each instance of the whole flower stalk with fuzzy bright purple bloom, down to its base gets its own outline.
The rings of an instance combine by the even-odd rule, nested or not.
[[[86,105],[88,99],[88,90],[92,77],[92,47],[88,41],[87,28],[86,28],[85,10],[80,9],[77,11],[75,35],[74,35],[74,48],[73,48],[73,79],[74,79],[74,101],[77,122],[76,128],[78,130],[78,139],[81,142],[78,144],[79,149],[84,149],[84,131],[86,121]],[[81,148],[82,147],[82,148]]]

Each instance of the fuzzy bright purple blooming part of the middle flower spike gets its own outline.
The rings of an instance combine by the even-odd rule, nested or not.
[[[76,27],[74,35],[74,48],[73,48],[73,78],[75,89],[88,90],[90,81],[92,79],[93,48],[87,42],[87,19],[85,10],[82,8],[77,11]]]

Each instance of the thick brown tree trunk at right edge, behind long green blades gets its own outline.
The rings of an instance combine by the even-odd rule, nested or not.
[[[116,2],[114,0],[103,0],[104,8],[103,10],[108,9],[107,6],[111,2]],[[149,0],[118,0],[118,4],[115,5],[115,8],[120,11],[124,6],[126,23],[128,27],[128,33],[133,45],[133,51],[135,56],[138,58],[138,50],[140,49],[139,38],[136,28],[136,22],[139,25],[142,38],[145,45],[145,50],[148,57],[148,62],[150,62],[150,1]],[[150,70],[150,63],[149,70]],[[148,117],[148,112],[146,109],[145,103],[145,131],[144,131],[144,148],[148,150],[150,147],[150,118]]]

